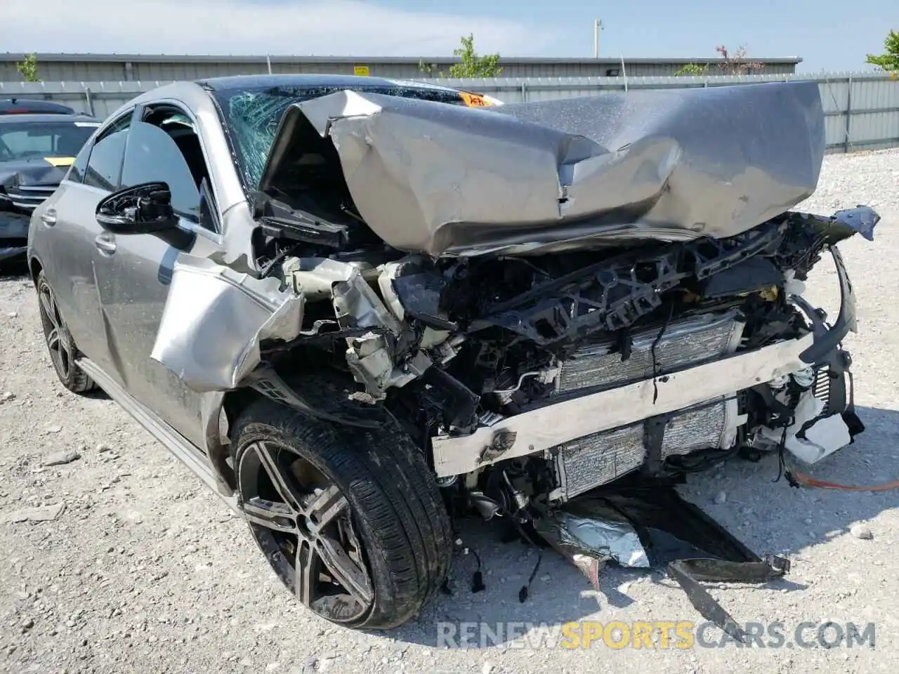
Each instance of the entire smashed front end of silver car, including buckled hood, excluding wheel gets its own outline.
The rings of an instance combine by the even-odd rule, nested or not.
[[[640,108],[616,122],[639,129],[648,145],[595,129],[574,136],[592,129],[586,112],[561,130],[540,117],[552,112],[564,126],[559,110],[608,110],[598,100],[521,108],[527,121],[352,93],[301,103],[282,122],[289,142],[272,150],[263,177],[271,193],[254,197],[252,269],[182,255],[152,358],[197,391],[252,387],[363,427],[389,414],[429,457],[441,487],[488,519],[529,521],[622,479],[687,474],[735,456],[790,452],[814,463],[863,429],[841,346],[856,329],[855,299],[837,245],[856,234],[872,239],[879,220],[867,207],[830,217],[788,210],[814,190],[820,170],[823,114],[814,96],[805,86],[750,86],[675,97],[657,119]],[[721,104],[720,117],[711,102]],[[779,111],[782,126],[770,137],[750,133],[755,113],[735,113],[736,102]],[[722,135],[720,149],[688,119],[700,110],[708,133]],[[395,126],[400,119],[415,121]],[[368,135],[356,133],[363,128]],[[415,158],[414,147],[432,147],[446,129],[490,148],[489,194],[467,182],[479,173],[452,152],[434,159],[431,173],[425,154]],[[633,142],[596,149],[597,138],[610,137]],[[659,173],[651,157],[660,155],[637,146],[677,151]],[[522,148],[543,157],[537,168],[517,154]],[[394,164],[383,163],[388,157]],[[568,173],[559,173],[563,165]],[[572,188],[567,201],[554,197],[561,215],[551,226],[540,196],[548,192],[535,186],[536,201],[522,206],[525,195],[513,189],[539,166],[555,176],[550,182],[567,175]],[[387,190],[384,210],[367,208],[375,195],[354,181]],[[434,200],[404,201],[417,194],[407,190],[413,182]],[[469,184],[470,200],[458,198]],[[641,186],[652,186],[645,199],[622,196]],[[319,210],[315,200],[298,208],[291,200],[301,192],[336,195],[343,210]],[[497,195],[507,219],[494,209]],[[619,199],[606,222],[616,223],[614,233],[593,217],[605,207],[592,210],[610,199]],[[468,222],[476,226],[457,226],[476,208],[481,215]],[[544,215],[521,220],[541,208]],[[450,212],[460,218],[451,226]],[[569,226],[579,228],[574,238]],[[841,289],[833,317],[803,297],[823,256]]]

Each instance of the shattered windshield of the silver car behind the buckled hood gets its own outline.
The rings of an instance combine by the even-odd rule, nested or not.
[[[437,87],[410,86],[273,86],[259,88],[222,89],[211,92],[224,116],[236,153],[237,168],[246,186],[255,189],[262,178],[271,143],[278,131],[281,117],[289,105],[352,89],[367,93],[383,93],[405,98],[418,98],[464,105],[454,91]]]

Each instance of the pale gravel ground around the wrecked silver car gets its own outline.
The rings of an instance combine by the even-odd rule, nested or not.
[[[883,221],[873,244],[842,246],[859,301],[850,336],[857,404],[868,430],[814,466],[825,479],[894,479],[899,458],[899,152],[827,157],[804,205],[824,213],[867,203]],[[811,299],[837,306],[832,266],[822,263]],[[502,544],[473,523],[466,545],[480,554],[486,590],[467,590],[475,564],[461,548],[457,588],[391,634],[334,628],[280,586],[245,523],[186,468],[102,396],[68,394],[40,336],[35,293],[23,276],[0,279],[0,670],[5,672],[667,672],[895,670],[899,634],[899,492],[791,489],[777,462],[732,462],[684,489],[759,552],[788,554],[788,580],[713,589],[739,621],[815,625],[876,623],[876,648],[590,650],[483,648],[437,643],[438,621],[696,620],[686,596],[660,574],[609,569],[602,592],[561,558],[544,557],[531,599],[518,590],[536,554]],[[79,458],[47,466],[48,457]],[[720,494],[723,493],[724,497]],[[720,502],[724,501],[724,502]],[[49,521],[13,521],[22,509],[58,505]],[[854,525],[867,528],[850,532]],[[860,537],[859,537],[860,535]],[[521,628],[520,628],[521,632]],[[721,633],[710,630],[707,641]],[[806,633],[811,638],[814,629]],[[789,638],[788,638],[789,641]]]

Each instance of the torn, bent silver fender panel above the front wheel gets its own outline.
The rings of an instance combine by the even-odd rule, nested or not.
[[[261,341],[298,335],[303,307],[304,297],[281,291],[278,279],[182,254],[150,358],[194,391],[233,389],[261,362]]]

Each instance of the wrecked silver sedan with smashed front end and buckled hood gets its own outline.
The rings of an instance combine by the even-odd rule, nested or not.
[[[388,628],[443,585],[460,509],[568,522],[569,549],[619,531],[609,556],[644,566],[629,528],[566,508],[850,444],[837,244],[879,218],[790,210],[823,148],[806,83],[512,105],[171,84],[97,130],[29,261],[62,383],[102,387],[242,512],[307,607]],[[803,297],[824,255],[832,318]]]

